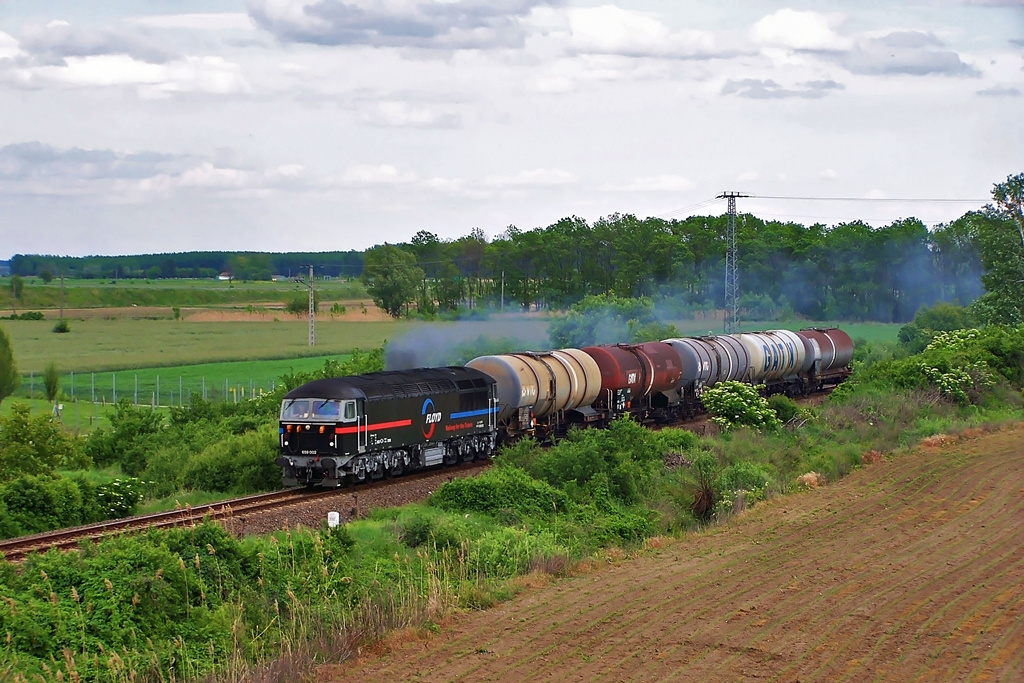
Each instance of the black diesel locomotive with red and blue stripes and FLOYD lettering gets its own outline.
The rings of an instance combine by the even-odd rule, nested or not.
[[[286,486],[338,486],[494,452],[495,380],[472,368],[370,373],[303,384],[281,408]]]

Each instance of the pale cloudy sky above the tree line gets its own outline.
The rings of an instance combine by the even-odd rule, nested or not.
[[[892,200],[1022,171],[1024,0],[0,0],[0,259],[494,237],[725,190],[932,225],[978,205]]]

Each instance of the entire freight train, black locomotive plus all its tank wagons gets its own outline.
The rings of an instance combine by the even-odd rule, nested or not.
[[[853,341],[837,328],[685,337],[473,358],[322,379],[285,395],[286,486],[340,486],[489,457],[501,443],[545,441],[629,415],[668,424],[703,412],[719,382],[800,396],[850,374]]]

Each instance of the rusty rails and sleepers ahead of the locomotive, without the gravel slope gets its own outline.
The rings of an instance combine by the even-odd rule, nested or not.
[[[11,562],[24,559],[28,554],[35,552],[45,552],[52,548],[70,550],[78,548],[84,541],[95,541],[104,536],[115,533],[131,533],[150,528],[168,528],[173,526],[188,526],[202,521],[204,518],[223,519],[229,517],[240,517],[257,512],[270,512],[293,505],[301,505],[324,498],[331,498],[353,493],[369,492],[380,486],[401,486],[403,483],[417,481],[431,476],[450,475],[456,471],[482,469],[490,465],[490,461],[477,461],[462,465],[446,467],[440,470],[428,470],[426,472],[416,472],[407,474],[399,479],[380,479],[350,488],[330,488],[319,490],[286,489],[275,490],[268,494],[257,494],[246,496],[218,503],[209,503],[196,507],[185,506],[177,510],[167,512],[156,512],[148,515],[136,515],[134,517],[124,517],[122,519],[112,519],[109,521],[86,524],[73,528],[57,529],[23,536],[16,539],[0,541],[0,554]]]

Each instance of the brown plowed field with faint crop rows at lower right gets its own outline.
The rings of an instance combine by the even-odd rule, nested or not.
[[[667,679],[1024,681],[1024,429],[919,449],[321,677]]]

